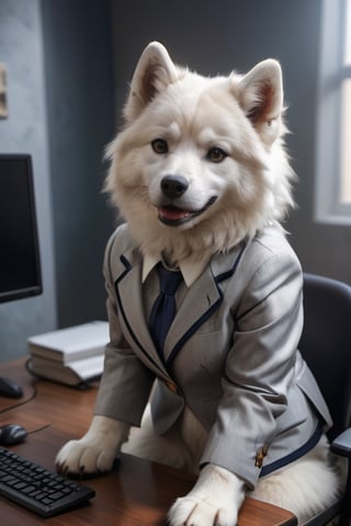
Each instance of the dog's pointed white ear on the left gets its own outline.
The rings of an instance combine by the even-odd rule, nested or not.
[[[154,96],[178,79],[177,67],[159,42],[151,42],[136,66],[124,107],[127,122],[135,119]]]

